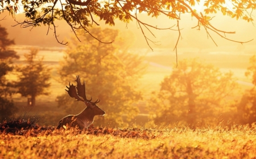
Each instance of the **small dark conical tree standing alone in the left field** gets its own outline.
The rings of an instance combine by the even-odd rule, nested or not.
[[[24,54],[27,65],[16,68],[20,75],[15,86],[23,97],[31,97],[31,106],[35,106],[36,96],[49,94],[47,88],[51,85],[48,82],[51,68],[43,64],[43,58],[35,61],[37,54],[37,49],[31,49],[30,53]]]

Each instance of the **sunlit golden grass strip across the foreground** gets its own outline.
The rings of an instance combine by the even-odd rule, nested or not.
[[[20,134],[20,135],[18,135]],[[21,130],[0,134],[0,158],[253,158],[256,127]]]

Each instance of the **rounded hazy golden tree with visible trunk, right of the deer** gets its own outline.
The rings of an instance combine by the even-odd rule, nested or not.
[[[214,119],[230,113],[225,98],[237,87],[232,72],[222,74],[218,68],[197,59],[180,61],[170,76],[153,92],[149,104],[156,123],[213,124]]]

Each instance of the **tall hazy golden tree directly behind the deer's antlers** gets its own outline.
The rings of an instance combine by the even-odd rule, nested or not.
[[[118,39],[117,30],[93,28],[90,32],[104,40]],[[106,32],[109,34],[106,35]],[[78,35],[84,42],[78,42],[75,37],[70,40],[71,44],[65,50],[64,60],[60,63],[61,83],[75,84],[74,79],[79,75],[81,81],[85,81],[88,98],[100,98],[98,106],[106,115],[95,120],[98,122],[96,124],[116,126],[117,123],[123,123],[123,115],[127,115],[128,119],[135,117],[138,113],[135,103],[141,99],[137,81],[144,70],[142,58],[123,52],[126,47],[122,44],[105,45],[88,34],[78,32]],[[57,99],[59,107],[67,113],[75,114],[84,109],[84,104],[73,102],[74,99],[68,97],[67,93]],[[75,110],[76,108],[80,110]]]

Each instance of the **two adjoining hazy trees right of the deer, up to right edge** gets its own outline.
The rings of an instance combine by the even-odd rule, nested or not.
[[[222,74],[199,59],[185,59],[164,78],[158,92],[152,92],[148,104],[155,124],[184,124],[191,127],[256,122],[256,57],[250,58],[250,76],[254,87],[235,98],[238,84],[232,72]]]

